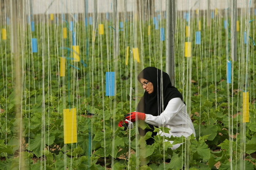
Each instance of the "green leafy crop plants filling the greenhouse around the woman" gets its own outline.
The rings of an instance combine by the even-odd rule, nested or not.
[[[181,21],[177,21],[181,24]],[[127,24],[132,24],[127,22]],[[219,23],[218,23],[219,24]],[[38,27],[40,25],[38,24]],[[144,28],[145,27],[145,28]],[[146,26],[142,26],[146,30]],[[124,130],[124,127],[118,127],[117,122],[124,119],[124,115],[135,110],[142,90],[136,86],[134,76],[146,66],[159,67],[162,61],[159,56],[164,56],[165,52],[160,53],[160,46],[148,44],[146,40],[154,41],[154,37],[148,37],[145,33],[142,35],[143,40],[138,40],[144,50],[144,65],[138,64],[138,67],[125,66],[125,43],[120,42],[120,58],[118,59],[118,68],[116,78],[117,90],[115,97],[105,96],[104,73],[110,68],[114,68],[114,62],[106,62],[107,59],[101,60],[101,54],[108,54],[109,46],[113,47],[113,42],[109,42],[106,36],[102,36],[99,43],[99,36],[95,42],[88,39],[89,44],[95,43],[95,48],[101,47],[102,52],[93,50],[86,43],[82,36],[78,37],[80,43],[81,58],[88,64],[84,67],[80,62],[75,63],[68,60],[68,63],[74,64],[81,68],[82,71],[69,70],[68,76],[63,79],[59,77],[59,56],[54,50],[59,49],[57,41],[61,42],[61,36],[54,36],[56,29],[61,32],[61,27],[49,26],[51,40],[45,45],[49,45],[49,58],[45,58],[45,84],[42,85],[42,53],[33,54],[33,60],[24,58],[24,87],[22,96],[21,117],[15,115],[15,90],[12,84],[12,60],[10,56],[10,43],[4,44],[2,49],[7,49],[6,57],[3,58],[5,66],[0,70],[7,70],[3,73],[4,81],[0,82],[0,106],[4,110],[0,111],[0,167],[1,169],[90,169],[98,170],[112,166],[115,170],[122,170],[127,167],[130,169],[182,169],[184,166],[196,169],[215,169],[215,164],[220,162],[220,169],[230,169],[233,167],[246,167],[246,170],[255,169],[256,153],[256,119],[255,104],[250,105],[250,123],[242,123],[241,91],[238,89],[238,77],[242,76],[238,72],[239,63],[234,62],[234,83],[233,87],[227,87],[226,74],[226,56],[225,48],[215,46],[210,43],[214,35],[206,32],[206,48],[219,50],[222,53],[218,56],[206,56],[196,52],[199,47],[193,48],[192,58],[192,79],[196,80],[191,83],[182,75],[187,72],[188,68],[181,66],[180,62],[186,66],[188,63],[184,56],[180,55],[179,43],[176,44],[175,52],[176,61],[176,87],[182,92],[184,99],[187,97],[191,101],[185,101],[191,114],[191,119],[196,130],[196,138],[191,136],[184,137],[154,137],[155,143],[147,145],[146,140],[151,138],[151,132],[147,132],[143,137],[139,136],[138,127],[144,129],[146,124],[138,122],[135,127]],[[91,32],[91,26],[88,27]],[[80,32],[86,32],[83,24],[78,25]],[[8,31],[8,30],[7,30]],[[110,30],[108,30],[110,32]],[[113,30],[112,30],[113,31]],[[153,30],[152,30],[153,32]],[[124,40],[129,35],[120,31],[120,40]],[[91,35],[90,35],[91,36]],[[222,43],[225,44],[226,35],[222,35]],[[26,33],[28,39],[30,35]],[[183,43],[183,35],[177,31],[177,42]],[[44,39],[42,38],[42,41]],[[67,45],[70,45],[67,41]],[[29,40],[26,41],[26,55],[31,54],[29,51]],[[162,44],[163,49],[165,43]],[[41,46],[38,46],[41,48]],[[208,49],[209,48],[209,49]],[[224,50],[223,50],[224,49]],[[89,54],[87,51],[89,50]],[[92,53],[94,51],[94,53]],[[153,54],[150,53],[153,51]],[[45,51],[46,52],[46,51]],[[48,52],[48,51],[47,51]],[[67,51],[61,51],[68,55]],[[60,53],[60,52],[59,52]],[[86,54],[86,55],[85,55]],[[197,56],[198,54],[202,56]],[[89,58],[90,56],[90,58]],[[29,56],[31,57],[31,56]],[[251,56],[252,57],[252,56]],[[214,61],[213,61],[214,59]],[[151,63],[148,61],[150,60]],[[32,62],[33,61],[33,62]],[[198,64],[202,62],[202,65]],[[219,63],[216,67],[212,63]],[[202,67],[201,67],[202,66]],[[68,66],[67,66],[68,67]],[[252,65],[251,68],[255,66]],[[132,70],[130,70],[132,68]],[[165,64],[163,64],[165,70]],[[112,71],[112,70],[111,70]],[[251,70],[251,73],[253,70]],[[254,74],[254,75],[253,75]],[[253,72],[251,81],[256,76]],[[187,84],[189,82],[189,84]],[[78,85],[78,86],[76,86]],[[191,89],[186,89],[186,85]],[[45,94],[42,93],[42,86],[45,88]],[[255,90],[250,87],[251,91]],[[232,91],[232,90],[233,91]],[[131,92],[130,92],[131,90]],[[188,92],[188,93],[187,93]],[[189,94],[190,96],[186,96]],[[227,95],[228,94],[228,95]],[[45,100],[42,100],[45,98]],[[230,101],[229,101],[230,99]],[[250,99],[254,101],[253,96]],[[45,106],[45,110],[42,109]],[[237,106],[238,105],[238,106]],[[64,144],[63,134],[63,109],[68,107],[77,108],[77,127],[78,142],[76,144]],[[232,110],[230,111],[230,108]],[[20,124],[22,122],[22,124]],[[233,126],[231,126],[233,125]],[[244,128],[244,129],[242,129]],[[19,140],[18,132],[22,129],[22,140]],[[166,127],[154,129],[154,132],[168,132]],[[243,131],[244,130],[244,133]],[[174,141],[172,144],[169,141]],[[172,145],[182,143],[176,150],[170,149]],[[242,152],[245,148],[245,154]],[[21,155],[22,161],[19,160]],[[230,160],[232,155],[232,159]],[[106,164],[105,160],[106,158]],[[240,159],[246,159],[240,161]],[[113,159],[113,161],[112,161]],[[165,163],[170,159],[170,163]]]

